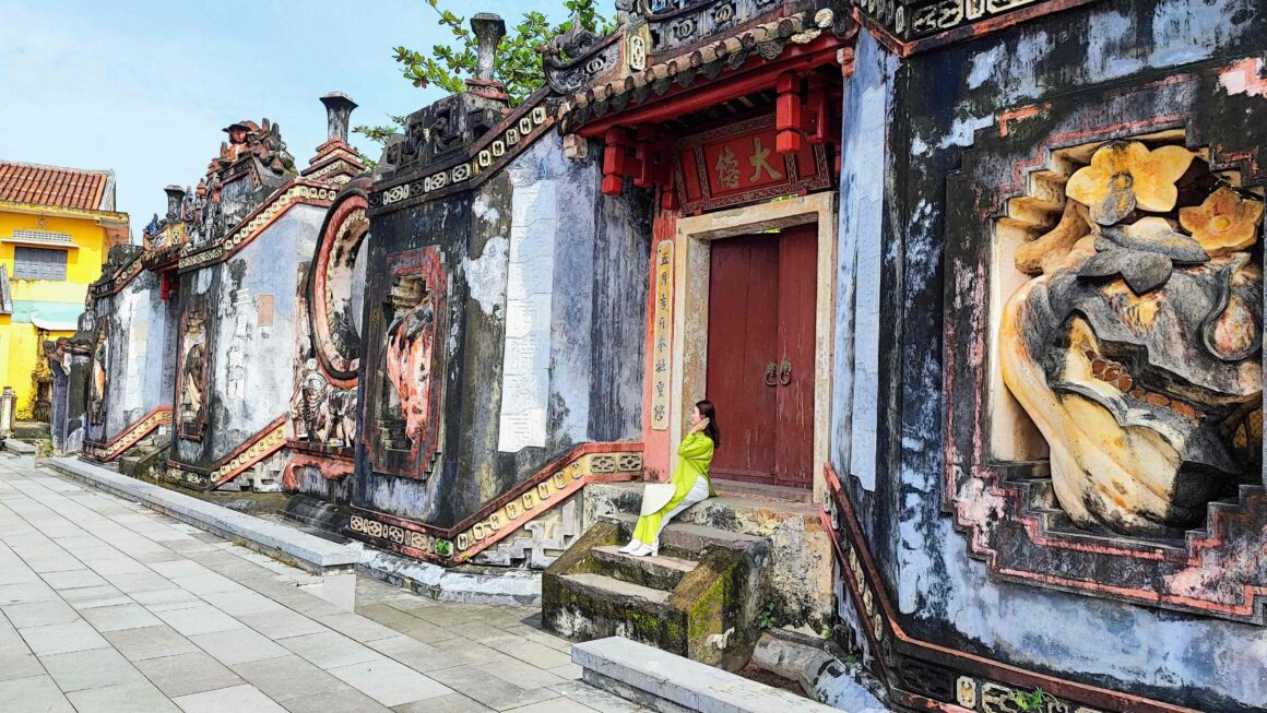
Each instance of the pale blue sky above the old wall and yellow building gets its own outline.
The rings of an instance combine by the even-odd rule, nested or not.
[[[563,4],[441,0],[508,24],[532,6],[563,19]],[[162,187],[196,184],[238,119],[279,123],[307,166],[326,141],[322,94],[356,100],[353,124],[437,99],[400,77],[392,48],[446,33],[426,0],[0,0],[0,158],[113,168],[139,239]]]

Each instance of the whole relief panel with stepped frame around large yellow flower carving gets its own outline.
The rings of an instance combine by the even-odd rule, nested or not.
[[[949,181],[944,507],[995,577],[1267,623],[1267,136],[1226,71],[1005,108]]]

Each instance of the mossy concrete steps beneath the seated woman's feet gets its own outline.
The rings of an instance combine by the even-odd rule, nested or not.
[[[660,534],[660,556],[631,557],[618,547],[628,542],[635,522],[623,513],[602,515],[545,571],[545,627],[582,641],[623,636],[741,669],[760,636],[769,543],[674,522]]]

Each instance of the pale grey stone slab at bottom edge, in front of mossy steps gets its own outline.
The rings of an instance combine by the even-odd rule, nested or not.
[[[618,636],[573,646],[571,661],[582,667],[585,683],[653,710],[839,713],[792,691]]]

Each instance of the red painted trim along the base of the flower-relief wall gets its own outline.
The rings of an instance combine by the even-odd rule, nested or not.
[[[1126,693],[1115,691],[1106,688],[1092,686],[1086,684],[1079,684],[1077,681],[1071,681],[1067,679],[1058,679],[1055,676],[1049,676],[1047,674],[1040,674],[1028,669],[1021,669],[1019,666],[1012,666],[1010,664],[1003,664],[1002,661],[996,661],[993,659],[986,659],[984,656],[977,656],[974,653],[967,653],[964,651],[958,651],[927,641],[915,638],[914,636],[906,633],[902,626],[897,622],[896,610],[893,609],[892,602],[889,602],[888,591],[883,586],[883,579],[879,576],[879,571],[875,569],[875,564],[872,560],[870,550],[867,547],[867,539],[863,536],[862,527],[858,523],[858,515],[854,513],[853,504],[849,502],[849,496],[845,494],[840,485],[840,480],[836,476],[836,470],[832,465],[825,464],[824,477],[827,483],[827,489],[832,495],[832,500],[836,503],[840,515],[844,517],[844,524],[849,531],[849,538],[853,543],[854,550],[858,552],[858,560],[862,564],[863,570],[867,572],[867,579],[872,584],[872,589],[875,591],[875,599],[878,600],[879,610],[884,614],[884,621],[892,636],[897,638],[903,645],[922,648],[927,651],[936,652],[944,657],[954,659],[959,665],[963,666],[965,671],[973,672],[981,676],[988,676],[1015,686],[1033,689],[1041,686],[1044,691],[1062,698],[1068,698],[1072,700],[1078,700],[1086,703],[1087,705],[1095,705],[1098,708],[1107,708],[1110,710],[1129,710],[1133,713],[1199,713],[1192,708],[1185,708],[1182,705],[1173,705],[1169,703],[1163,703],[1161,700],[1154,700],[1150,698],[1143,698],[1138,695],[1131,695]],[[849,599],[854,604],[855,610],[860,619],[867,621],[867,614],[862,609],[860,603],[863,602],[863,594],[858,591],[853,577],[848,576],[849,565],[848,557],[840,546],[839,536],[831,523],[831,517],[818,509],[818,517],[822,522],[824,529],[827,532],[827,537],[831,538],[832,551],[836,555],[836,564],[841,567],[841,579],[845,586],[849,589]],[[862,627],[867,640],[872,645],[872,651],[881,652],[879,641],[875,638],[874,632],[870,627]],[[887,662],[883,662],[886,666]],[[907,693],[907,695],[912,695]],[[944,703],[935,702],[924,697],[915,697],[924,702],[929,708],[941,708],[948,709]],[[955,707],[952,707],[955,708]]]

